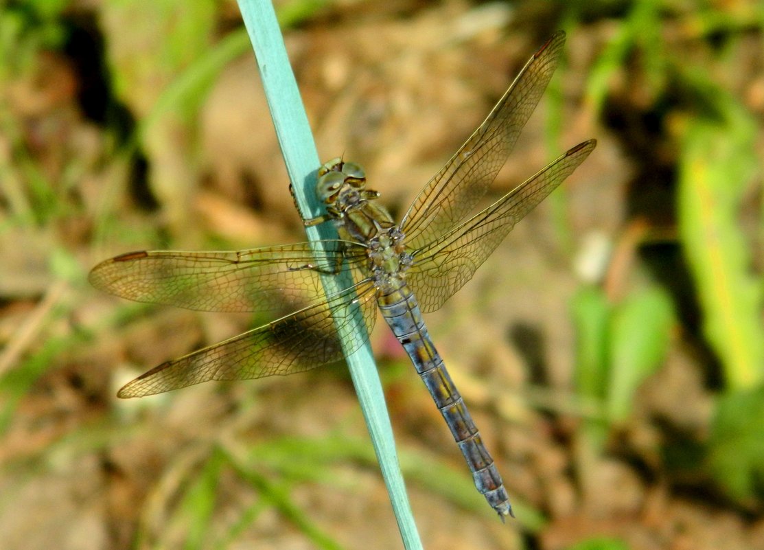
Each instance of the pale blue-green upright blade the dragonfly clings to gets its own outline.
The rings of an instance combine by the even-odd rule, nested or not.
[[[303,218],[315,216],[319,213],[319,204],[313,188],[320,162],[303,102],[286,55],[273,5],[267,0],[239,0],[238,3],[257,57],[265,95],[300,214]],[[331,237],[330,228],[325,227],[326,225],[307,228],[309,239],[319,241],[322,237]],[[329,294],[351,283],[349,280],[338,280],[338,277],[325,277],[322,282],[324,290]],[[356,315],[361,314],[356,311]],[[355,325],[363,326],[362,323]],[[347,331],[339,332],[343,341],[361,337],[361,335],[354,336],[345,332]],[[422,548],[403,484],[403,476],[400,473],[390,418],[371,348],[368,345],[362,346],[354,354],[348,355],[347,361],[374,451],[390,494],[390,502],[403,538],[403,545],[406,548]]]

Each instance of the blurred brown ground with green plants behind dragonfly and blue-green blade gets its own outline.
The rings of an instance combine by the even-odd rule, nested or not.
[[[516,520],[372,335],[425,547],[764,548],[761,3],[277,12],[319,154],[397,218],[568,32],[489,199],[597,149],[426,318]],[[95,263],[304,240],[238,5],[5,2],[0,56],[0,548],[400,548],[342,365],[115,397],[254,320],[106,296]]]

